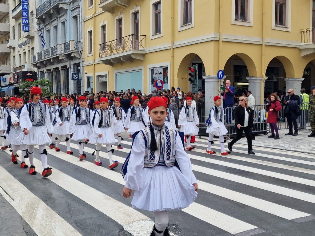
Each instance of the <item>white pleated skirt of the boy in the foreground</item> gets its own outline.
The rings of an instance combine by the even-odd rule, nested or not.
[[[133,208],[146,211],[179,211],[197,197],[195,187],[175,167],[143,168],[143,185],[135,191]]]

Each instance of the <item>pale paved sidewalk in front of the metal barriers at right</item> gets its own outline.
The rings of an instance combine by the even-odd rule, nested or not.
[[[288,132],[288,129],[279,130],[280,139],[277,140],[268,138],[271,135],[270,133],[267,135],[256,135],[255,140],[253,140],[253,146],[315,154],[315,138],[307,137],[310,132],[306,130],[299,131],[298,136],[284,135]],[[247,145],[247,139],[243,137],[237,143]]]

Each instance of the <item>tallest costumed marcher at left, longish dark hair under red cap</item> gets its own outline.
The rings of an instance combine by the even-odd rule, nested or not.
[[[46,143],[51,140],[49,134],[52,132],[50,115],[48,107],[39,100],[42,97],[40,87],[31,87],[30,98],[32,101],[23,106],[20,114],[20,126],[23,131],[17,138],[21,144],[28,145],[28,157],[30,160],[29,173],[36,174],[34,160],[34,146],[38,145],[43,172],[42,177],[51,175],[52,168],[47,165],[47,150]]]

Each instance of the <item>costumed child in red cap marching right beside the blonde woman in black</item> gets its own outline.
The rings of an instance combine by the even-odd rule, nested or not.
[[[215,151],[211,151],[211,144],[213,143],[213,136],[219,136],[221,155],[228,155],[230,152],[225,151],[224,149],[224,138],[223,136],[227,133],[227,129],[224,126],[222,120],[224,119],[224,110],[221,107],[221,98],[215,96],[213,98],[215,105],[211,107],[209,117],[206,121],[207,133],[209,133],[208,138],[208,148],[207,153],[215,154]]]

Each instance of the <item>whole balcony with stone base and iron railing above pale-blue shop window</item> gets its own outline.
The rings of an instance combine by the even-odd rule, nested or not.
[[[99,45],[100,61],[106,65],[132,62],[133,59],[144,60],[146,53],[146,36],[131,34]]]

